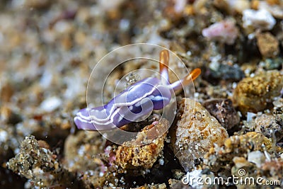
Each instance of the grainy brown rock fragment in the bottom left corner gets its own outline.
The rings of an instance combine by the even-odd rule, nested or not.
[[[34,136],[25,137],[21,142],[20,152],[8,161],[8,168],[30,179],[30,183],[34,184],[33,188],[50,188],[56,184],[64,188],[76,185],[74,174],[63,168],[50,149],[41,145],[42,142],[38,142]]]

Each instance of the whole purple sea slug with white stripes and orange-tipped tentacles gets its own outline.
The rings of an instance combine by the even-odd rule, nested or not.
[[[194,69],[184,79],[170,84],[168,60],[168,51],[161,51],[159,63],[161,79],[155,77],[142,79],[115,96],[106,105],[80,110],[74,118],[76,126],[82,130],[112,130],[139,120],[149,115],[152,110],[164,108],[171,101],[174,91],[189,84],[200,74],[200,69]]]

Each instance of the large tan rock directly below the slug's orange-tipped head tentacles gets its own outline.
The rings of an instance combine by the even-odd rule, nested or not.
[[[228,134],[200,103],[183,98],[178,105],[181,118],[171,132],[173,151],[185,171],[190,171],[195,161],[215,144],[223,144]]]

